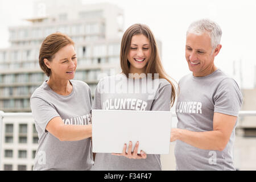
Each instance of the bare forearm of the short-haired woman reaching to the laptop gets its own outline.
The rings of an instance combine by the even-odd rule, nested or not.
[[[76,141],[92,137],[92,125],[63,125],[61,127],[61,141]]]

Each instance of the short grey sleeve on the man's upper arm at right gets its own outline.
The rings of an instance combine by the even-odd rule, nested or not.
[[[233,78],[225,78],[218,85],[213,97],[214,113],[234,115],[238,117],[238,112],[243,103],[242,93],[237,82]]]

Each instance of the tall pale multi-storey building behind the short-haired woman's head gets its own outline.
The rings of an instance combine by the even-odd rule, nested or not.
[[[56,31],[75,42],[78,63],[74,79],[88,83],[92,94],[100,73],[120,71],[122,10],[115,5],[82,5],[79,1],[73,6],[68,6],[71,1],[53,6],[56,2],[36,1],[35,7],[43,7],[45,15],[26,19],[27,26],[9,28],[11,46],[0,49],[0,110],[31,111],[31,94],[48,78],[39,67],[39,49],[43,39]]]

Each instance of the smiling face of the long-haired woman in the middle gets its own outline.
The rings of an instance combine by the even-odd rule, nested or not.
[[[134,35],[131,38],[130,51],[128,53],[130,73],[145,73],[148,59],[150,58],[150,42],[143,34]]]

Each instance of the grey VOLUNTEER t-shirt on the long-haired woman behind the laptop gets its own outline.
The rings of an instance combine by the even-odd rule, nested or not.
[[[105,77],[97,85],[92,109],[170,111],[171,92],[171,84],[163,78],[151,83],[142,79],[127,78],[122,74]],[[155,124],[158,125],[158,121]],[[124,171],[161,169],[160,155],[148,154],[146,159],[128,159],[104,153],[96,154],[92,168]]]

